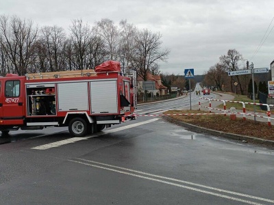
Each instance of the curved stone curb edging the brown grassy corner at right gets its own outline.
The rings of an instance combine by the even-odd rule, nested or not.
[[[179,124],[180,126],[184,126],[186,128],[189,128],[192,131],[195,131],[195,133],[208,133],[210,135],[215,135],[215,136],[219,136],[219,137],[226,137],[229,139],[236,139],[236,140],[245,140],[245,141],[249,141],[249,142],[253,142],[253,143],[260,143],[262,145],[267,145],[267,146],[274,146],[274,141],[272,140],[268,140],[268,139],[261,139],[258,137],[249,137],[246,135],[237,135],[237,134],[233,134],[233,133],[224,133],[222,131],[215,131],[209,128],[203,128],[201,126],[196,126],[193,124],[188,124],[186,122],[180,122],[178,120],[175,120],[173,118],[170,118],[169,116],[162,116],[162,118],[164,118],[164,120],[167,120],[169,122],[173,122],[175,124]]]

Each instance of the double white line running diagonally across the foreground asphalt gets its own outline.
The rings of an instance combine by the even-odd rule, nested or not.
[[[83,159],[81,159],[83,160]],[[116,167],[116,166],[112,166],[112,165],[106,165],[106,164],[103,164],[103,163],[99,163],[101,165],[105,165],[105,166],[108,166],[108,167],[102,167],[102,166],[99,166],[99,165],[94,165],[94,164],[90,164],[90,163],[83,163],[81,161],[74,161],[74,160],[68,160],[68,161],[71,161],[71,162],[74,162],[74,163],[79,163],[79,164],[82,164],[82,165],[88,165],[90,167],[97,167],[99,169],[105,169],[105,170],[108,170],[108,171],[112,171],[112,172],[117,172],[117,173],[120,173],[120,174],[126,174],[126,175],[129,175],[129,176],[135,176],[135,177],[138,177],[138,178],[144,178],[144,179],[147,179],[147,180],[152,180],[152,181],[155,181],[155,182],[162,182],[164,184],[170,184],[170,185],[173,185],[175,187],[181,187],[181,188],[184,188],[184,189],[189,189],[191,191],[197,191],[197,192],[200,192],[200,193],[206,193],[206,194],[209,194],[209,195],[214,195],[214,196],[217,196],[217,197],[223,197],[223,198],[226,198],[228,200],[235,200],[237,202],[244,202],[244,203],[247,203],[247,204],[256,204],[258,205],[259,203],[257,202],[251,202],[249,200],[242,200],[238,197],[231,197],[229,195],[223,195],[223,194],[219,194],[219,193],[214,193],[212,191],[206,191],[206,190],[203,190],[203,189],[197,189],[197,188],[194,188],[194,187],[188,187],[188,186],[185,186],[185,185],[182,185],[182,184],[176,184],[176,183],[173,183],[173,182],[168,182],[166,180],[159,180],[157,178],[151,178],[151,177],[147,177],[147,176],[142,176],[142,175],[138,175],[138,174],[132,174],[132,173],[129,173],[129,172],[123,172],[121,170],[118,170],[118,169],[112,169],[112,168],[108,168],[108,167]],[[86,160],[85,160],[86,161]],[[90,161],[91,162],[91,161]],[[96,163],[96,162],[95,162]],[[130,172],[136,172],[136,173],[139,173],[139,174],[145,174],[145,175],[149,175],[149,176],[153,176],[153,177],[158,177],[158,178],[164,178],[162,176],[157,176],[157,175],[153,175],[153,174],[148,174],[148,173],[145,173],[145,172],[138,172],[138,171],[135,171],[135,170],[132,170],[132,169],[125,169],[123,167],[116,167],[116,168],[119,168],[119,169],[124,169],[124,170],[127,170],[127,171],[130,171]],[[172,179],[172,178],[165,178],[165,179],[169,179],[169,180],[176,180],[176,179]],[[181,181],[181,180],[176,180],[178,182],[184,182],[184,181]],[[191,183],[191,182],[188,182],[188,183]],[[195,184],[195,183],[191,183],[191,184]],[[203,186],[201,184],[198,184],[199,187],[206,187],[207,189],[214,189],[216,191],[219,191],[219,190],[223,190],[223,189],[216,189],[214,187],[208,187],[208,186]],[[225,190],[224,190],[225,191]],[[223,192],[224,192],[223,191]],[[244,197],[250,197],[250,198],[253,198],[253,199],[256,199],[256,200],[262,200],[264,202],[272,202],[274,203],[273,200],[269,200],[269,199],[264,199],[264,198],[261,198],[261,197],[254,197],[252,195],[245,195],[245,194],[242,194],[242,193],[236,193],[234,191],[227,191],[227,193],[232,193],[234,195],[240,195],[240,196],[244,196]]]

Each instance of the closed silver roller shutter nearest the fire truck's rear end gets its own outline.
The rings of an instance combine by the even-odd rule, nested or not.
[[[92,113],[118,113],[117,81],[91,81]]]

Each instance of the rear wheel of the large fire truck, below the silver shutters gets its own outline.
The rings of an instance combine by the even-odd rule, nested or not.
[[[73,137],[84,137],[88,133],[88,123],[83,118],[73,118],[69,122],[69,133]]]

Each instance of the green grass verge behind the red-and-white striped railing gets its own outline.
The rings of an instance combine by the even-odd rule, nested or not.
[[[253,99],[248,98],[245,95],[239,95],[239,94],[233,94],[233,93],[228,93],[231,94],[232,96],[234,96],[234,100],[233,101],[240,101],[240,102],[252,102],[253,103]],[[260,103],[259,100],[255,100],[256,103]],[[238,102],[225,102],[225,105],[227,108],[230,107],[235,107],[236,109],[240,109],[242,110],[242,103],[238,103]],[[218,106],[219,108],[223,108],[223,104]],[[264,110],[262,110],[260,108],[259,105],[255,105],[255,109],[256,112],[266,112]],[[246,111],[253,111],[254,110],[254,105],[245,105],[245,110]]]

